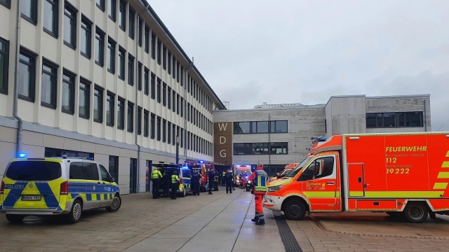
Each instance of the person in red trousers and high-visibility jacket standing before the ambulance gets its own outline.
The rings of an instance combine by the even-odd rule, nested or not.
[[[253,181],[254,185],[254,200],[255,200],[255,217],[251,220],[256,225],[264,225],[264,209],[262,207],[262,200],[265,193],[267,193],[267,179],[268,174],[264,171],[264,165],[262,162],[257,162],[257,168],[253,172],[248,180]]]

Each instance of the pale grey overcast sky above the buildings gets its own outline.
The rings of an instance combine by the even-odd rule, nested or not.
[[[449,131],[449,0],[148,0],[230,109],[431,94]]]

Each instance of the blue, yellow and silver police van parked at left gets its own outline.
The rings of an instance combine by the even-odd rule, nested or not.
[[[83,211],[120,207],[115,179],[89,158],[13,159],[1,181],[0,214],[13,223],[26,216],[60,215],[77,223]]]

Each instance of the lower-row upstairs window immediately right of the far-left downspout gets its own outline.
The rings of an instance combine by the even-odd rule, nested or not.
[[[8,85],[8,83],[4,85]],[[34,102],[34,87],[36,87],[36,55],[26,50],[20,50],[19,98]]]

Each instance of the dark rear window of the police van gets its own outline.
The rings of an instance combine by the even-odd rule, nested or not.
[[[15,181],[52,181],[61,177],[61,165],[49,161],[16,161],[11,162],[5,176]]]

